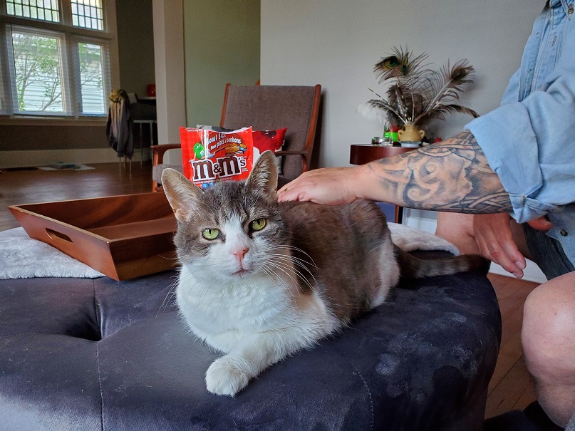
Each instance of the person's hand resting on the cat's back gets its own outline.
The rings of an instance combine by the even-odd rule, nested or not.
[[[358,198],[359,167],[330,167],[304,172],[278,190],[279,202],[298,200],[317,204],[347,204]]]

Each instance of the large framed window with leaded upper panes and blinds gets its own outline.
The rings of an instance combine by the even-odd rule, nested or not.
[[[103,0],[0,0],[0,114],[108,113],[110,43]]]

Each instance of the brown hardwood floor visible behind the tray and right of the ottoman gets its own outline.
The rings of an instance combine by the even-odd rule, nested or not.
[[[3,170],[0,174],[0,231],[18,227],[8,205],[52,202],[85,197],[150,192],[150,162],[140,167],[133,162],[132,172],[118,164],[91,165],[95,170],[46,172],[42,170]],[[520,333],[525,298],[536,283],[489,274],[497,292],[502,313],[503,335],[499,360],[491,383],[485,417],[513,409],[523,409],[535,400],[525,368]]]

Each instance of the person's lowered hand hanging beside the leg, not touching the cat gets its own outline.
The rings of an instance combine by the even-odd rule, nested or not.
[[[521,279],[527,263],[514,242],[510,221],[507,213],[475,215],[473,234],[477,247],[486,259]]]

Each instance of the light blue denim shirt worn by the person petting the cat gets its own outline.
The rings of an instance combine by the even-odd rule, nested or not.
[[[467,124],[527,222],[547,214],[575,265],[574,0],[549,0],[499,108]]]

